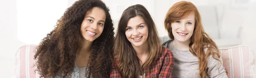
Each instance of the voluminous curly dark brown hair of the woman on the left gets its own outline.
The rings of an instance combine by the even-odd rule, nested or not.
[[[87,75],[109,78],[113,61],[114,28],[109,9],[101,0],[79,0],[58,20],[55,28],[38,45],[35,58],[36,71],[41,77],[67,78],[75,66],[76,55],[81,49],[81,23],[93,7],[105,11],[106,20],[102,34],[93,41]]]

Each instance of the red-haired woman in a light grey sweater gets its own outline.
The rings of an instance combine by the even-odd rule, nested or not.
[[[194,4],[175,3],[166,14],[164,26],[171,40],[163,45],[174,54],[175,78],[227,78],[218,47],[204,31]]]

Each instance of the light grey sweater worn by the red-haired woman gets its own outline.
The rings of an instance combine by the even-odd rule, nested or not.
[[[189,50],[177,50],[172,45],[172,41],[169,40],[163,43],[163,46],[170,49],[173,53],[175,59],[173,67],[174,78],[201,78],[198,74],[198,58],[193,56]],[[207,59],[207,78],[227,78],[223,65],[221,67],[220,65],[221,63],[219,61],[209,56]]]

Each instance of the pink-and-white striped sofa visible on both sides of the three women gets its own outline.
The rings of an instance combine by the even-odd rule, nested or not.
[[[36,45],[23,45],[16,53],[16,78],[39,78],[35,72],[34,55]],[[247,46],[235,46],[220,49],[221,61],[228,72],[228,78],[253,78],[254,61],[253,51]]]

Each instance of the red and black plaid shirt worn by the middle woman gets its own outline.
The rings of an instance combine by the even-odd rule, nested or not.
[[[171,50],[163,47],[161,56],[145,71],[145,78],[172,78],[174,58]],[[122,78],[118,70],[117,61],[114,62],[110,78]]]

